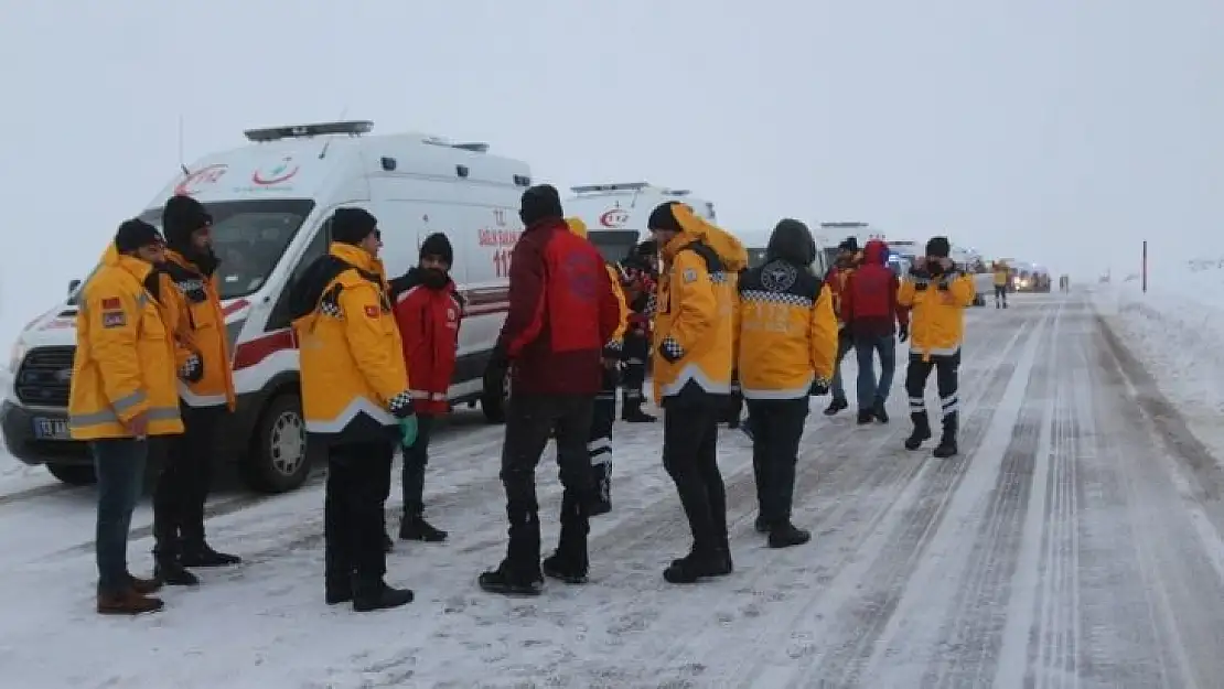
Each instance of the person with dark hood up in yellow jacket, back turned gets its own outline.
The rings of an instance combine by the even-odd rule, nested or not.
[[[753,423],[756,530],[771,548],[799,546],[812,534],[791,521],[794,467],[808,419],[808,395],[829,388],[837,356],[832,290],[808,267],[815,261],[808,226],[783,219],[765,263],[739,281],[739,383]]]

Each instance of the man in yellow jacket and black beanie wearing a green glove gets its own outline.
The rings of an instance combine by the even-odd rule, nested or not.
[[[360,208],[339,208],[327,229],[332,246],[294,285],[290,313],[308,442],[328,450],[326,600],[368,612],[412,601],[412,591],[383,579],[383,509],[395,445],[416,442],[416,417],[378,259],[378,220]]]

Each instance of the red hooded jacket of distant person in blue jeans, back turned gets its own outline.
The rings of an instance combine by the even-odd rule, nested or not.
[[[863,263],[846,279],[841,317],[854,337],[883,338],[909,326],[908,311],[897,305],[901,280],[887,261],[889,245],[871,240],[863,247]]]

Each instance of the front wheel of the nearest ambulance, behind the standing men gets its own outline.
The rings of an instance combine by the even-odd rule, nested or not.
[[[306,482],[310,455],[301,398],[285,393],[268,404],[256,426],[244,469],[247,483],[261,493],[285,493]]]

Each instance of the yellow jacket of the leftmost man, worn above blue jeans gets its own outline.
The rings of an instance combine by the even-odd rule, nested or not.
[[[125,423],[140,414],[149,436],[182,432],[174,334],[144,286],[152,272],[111,245],[81,292],[69,394],[75,439],[130,438]]]

